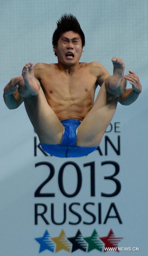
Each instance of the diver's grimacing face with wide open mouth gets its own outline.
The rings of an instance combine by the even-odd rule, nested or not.
[[[83,52],[80,35],[73,31],[63,33],[54,50],[56,51],[59,63],[67,65],[79,63]]]

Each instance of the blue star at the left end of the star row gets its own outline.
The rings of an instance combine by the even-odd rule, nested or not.
[[[46,249],[54,252],[55,245],[52,240],[50,240],[50,234],[48,233],[47,229],[42,237],[37,237],[35,240],[40,244],[39,253],[45,251]]]

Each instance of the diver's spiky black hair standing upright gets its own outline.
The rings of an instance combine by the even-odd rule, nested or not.
[[[73,31],[78,33],[81,36],[81,41],[82,41],[82,48],[85,45],[85,36],[84,33],[80,27],[80,24],[75,16],[72,14],[67,14],[65,13],[60,17],[60,19],[56,22],[57,27],[53,33],[52,36],[52,46],[53,48],[57,46],[58,40],[60,36],[67,31]],[[56,51],[54,50],[54,54],[56,55]],[[56,55],[57,56],[57,55]]]

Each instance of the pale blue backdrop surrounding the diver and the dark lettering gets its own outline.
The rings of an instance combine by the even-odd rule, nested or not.
[[[112,229],[115,238],[120,238],[119,247],[139,247],[137,252],[121,253],[146,255],[147,6],[148,1],[136,0],[1,1],[0,241],[2,256],[36,256],[40,255],[40,248],[44,249],[42,255],[50,255],[53,252],[45,249],[45,244],[41,247],[35,240],[43,237],[46,230],[51,238],[57,238],[58,242],[53,246],[54,251],[59,250],[58,255],[69,255],[71,252],[60,250],[58,237],[62,229],[67,238],[75,237],[78,230],[81,231],[83,238],[88,238],[94,229],[98,237],[103,238]],[[23,104],[17,110],[9,110],[2,98],[5,84],[11,77],[19,75],[28,61],[34,63],[57,61],[52,51],[51,39],[56,20],[64,12],[77,16],[86,36],[82,61],[99,61],[112,73],[111,57],[122,57],[126,64],[125,73],[128,73],[128,69],[132,69],[139,75],[143,85],[143,91],[136,102],[130,106],[118,104],[115,116],[107,129],[108,132],[105,133],[100,144],[100,153],[96,150],[82,158],[60,159],[45,156],[39,148],[36,148],[37,156],[34,156],[36,134]],[[128,84],[127,87],[130,85]],[[105,138],[106,140],[109,138],[117,150],[119,150],[119,139],[119,155],[109,142],[105,146]],[[81,189],[75,197],[66,197],[62,194],[59,188],[61,176],[58,184],[59,170],[69,161],[80,168],[79,180],[82,174]],[[120,181],[121,190],[114,197],[104,197],[101,194],[111,194],[116,190],[115,181],[104,179],[105,176],[111,176],[115,172],[113,163],[102,165],[105,161],[116,162],[120,167],[119,174],[115,178]],[[48,166],[35,167],[39,162],[48,162],[54,166],[54,176],[41,190],[41,193],[55,193],[54,197],[34,197],[36,189],[49,176]],[[95,167],[92,168],[92,174],[95,173],[95,189],[92,186],[92,193],[95,192],[95,196],[90,194],[90,180],[93,181],[93,177],[90,179],[89,163],[91,162]],[[84,164],[88,164],[88,167],[84,167]],[[64,169],[63,185],[68,194],[73,194],[76,190],[76,170],[70,164]],[[55,221],[62,222],[64,203],[66,204],[65,223],[56,225],[51,218],[51,204],[54,204]],[[73,203],[75,204],[72,209],[81,215],[79,218],[69,210],[69,206]],[[83,207],[86,203],[91,203],[86,208],[96,216],[96,221],[94,215],[92,217],[84,211]],[[44,204],[42,207],[38,206],[38,213],[43,212],[47,207],[44,216],[50,224],[47,225],[41,216],[38,216],[38,224],[35,224],[35,204]],[[112,209],[108,212],[110,206]],[[108,218],[103,224],[107,212]],[[76,224],[80,218],[82,218],[81,222]],[[93,224],[83,223],[91,223],[92,220],[94,220]],[[43,242],[43,239],[40,242]],[[100,242],[104,247],[103,241]],[[88,243],[86,245],[88,251]],[[74,246],[72,247],[69,242],[68,248],[71,251]],[[80,256],[84,253],[88,252],[82,249],[73,252],[74,255]],[[90,255],[102,253],[103,251],[96,249],[89,252]],[[116,252],[105,252],[105,254],[116,255]]]

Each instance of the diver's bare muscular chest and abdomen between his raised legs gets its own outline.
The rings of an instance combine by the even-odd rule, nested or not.
[[[34,67],[46,100],[58,119],[83,120],[94,105],[97,77],[92,72],[93,63],[80,63],[74,73],[68,75],[58,64],[38,63]],[[101,65],[100,65],[101,66]]]

